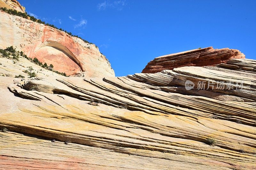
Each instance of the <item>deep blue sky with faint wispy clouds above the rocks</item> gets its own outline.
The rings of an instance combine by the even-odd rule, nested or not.
[[[30,15],[96,44],[116,76],[198,47],[256,59],[256,1],[19,0]]]

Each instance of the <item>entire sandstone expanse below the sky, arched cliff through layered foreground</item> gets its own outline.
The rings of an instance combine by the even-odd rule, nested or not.
[[[256,169],[256,60],[208,47],[114,77],[95,45],[0,16],[0,48],[86,76],[0,53],[0,169]]]

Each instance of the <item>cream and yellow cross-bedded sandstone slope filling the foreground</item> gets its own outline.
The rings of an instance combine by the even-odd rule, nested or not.
[[[12,131],[0,132],[0,167],[253,170],[255,68],[230,59],[125,77],[0,76],[0,128]]]

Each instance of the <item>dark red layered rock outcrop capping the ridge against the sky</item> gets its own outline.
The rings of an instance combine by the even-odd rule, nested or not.
[[[229,59],[244,58],[245,55],[239,50],[207,47],[157,57],[148,63],[142,73],[157,73],[165,69],[172,70],[184,66],[214,66],[226,63]]]

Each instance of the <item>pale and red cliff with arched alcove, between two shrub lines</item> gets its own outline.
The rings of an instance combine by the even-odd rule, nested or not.
[[[68,75],[115,76],[110,63],[94,44],[31,20],[0,11],[0,48],[14,46],[30,58],[52,64]]]

